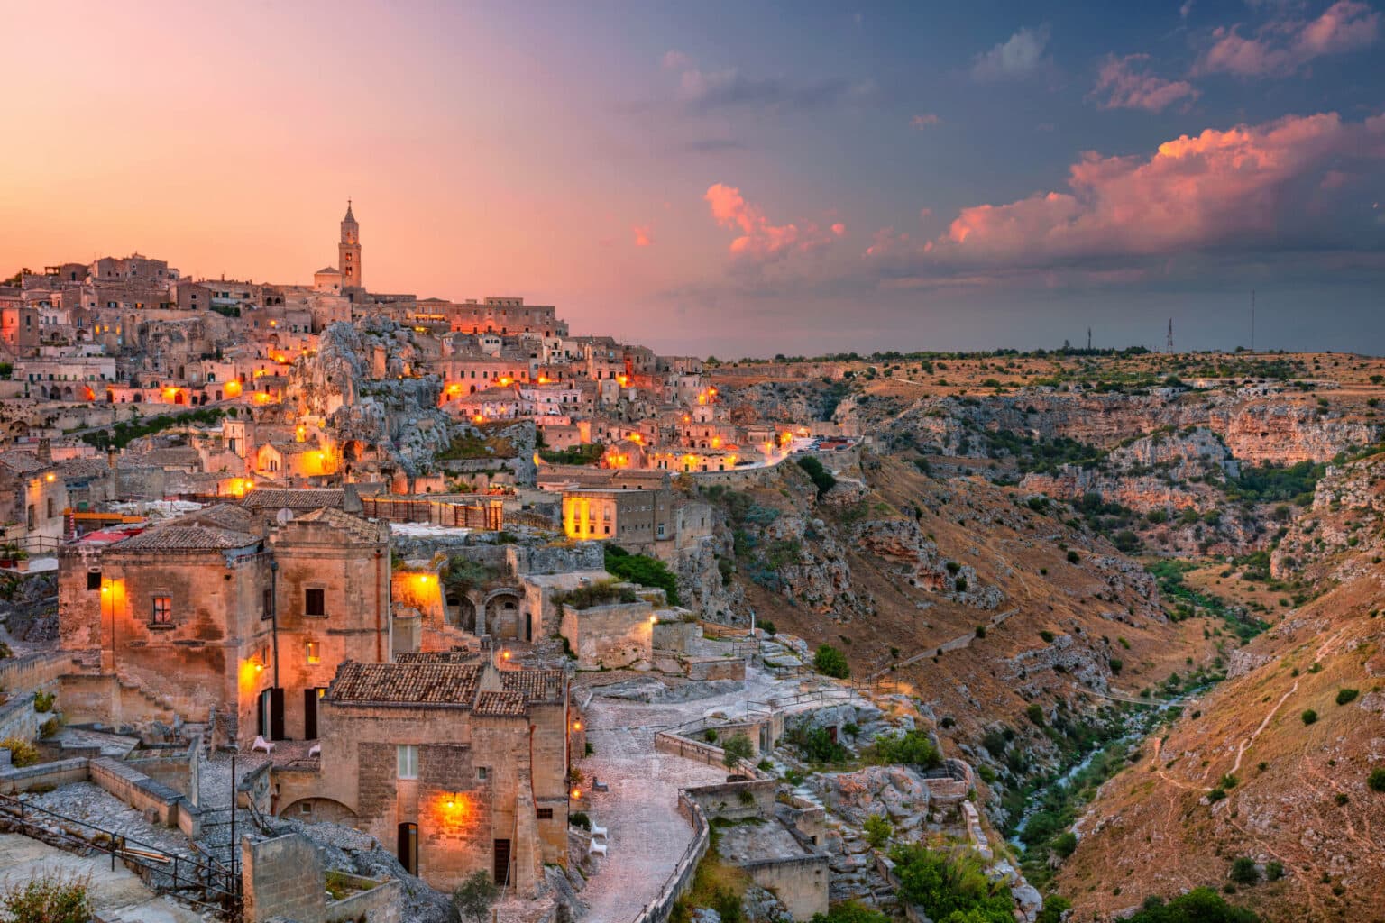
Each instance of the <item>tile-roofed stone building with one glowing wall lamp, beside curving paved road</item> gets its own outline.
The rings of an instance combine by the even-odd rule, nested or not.
[[[321,699],[320,758],[276,767],[276,811],[353,825],[443,891],[485,870],[535,894],[543,865],[568,855],[575,718],[562,671],[404,657],[338,668]]]

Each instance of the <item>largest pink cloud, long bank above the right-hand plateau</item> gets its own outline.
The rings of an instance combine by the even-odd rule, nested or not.
[[[1287,116],[1181,136],[1151,156],[1089,152],[1069,169],[1068,191],[961,209],[931,259],[1043,266],[1274,244],[1309,208],[1298,187],[1353,158],[1385,162],[1385,119]],[[871,250],[897,252],[897,238],[889,242]]]

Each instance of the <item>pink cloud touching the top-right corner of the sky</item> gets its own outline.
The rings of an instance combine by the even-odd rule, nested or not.
[[[1330,54],[1346,54],[1374,44],[1381,14],[1359,0],[1337,0],[1316,19],[1274,19],[1255,37],[1240,26],[1212,32],[1213,44],[1198,60],[1195,73],[1231,73],[1241,77],[1285,75]]]

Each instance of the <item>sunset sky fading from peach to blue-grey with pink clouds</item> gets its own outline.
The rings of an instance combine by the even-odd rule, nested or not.
[[[0,274],[141,252],[662,353],[1385,353],[1385,0],[0,0]]]

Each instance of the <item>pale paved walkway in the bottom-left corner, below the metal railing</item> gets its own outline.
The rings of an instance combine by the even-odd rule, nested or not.
[[[18,833],[0,833],[0,887],[42,873],[87,879],[93,909],[109,923],[202,923],[201,915],[148,890],[119,862],[111,870],[108,857],[83,858]]]

